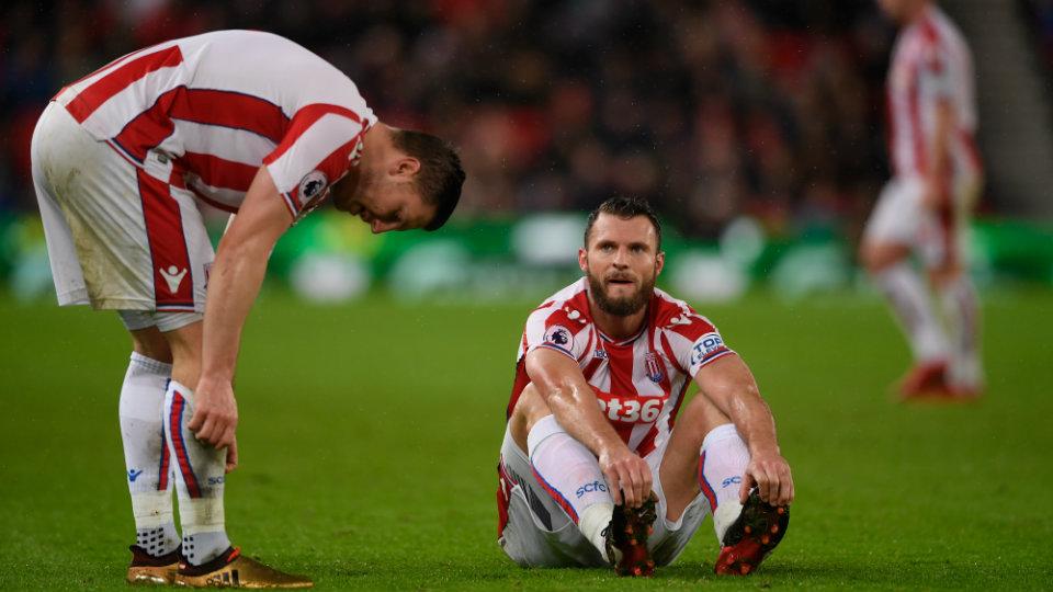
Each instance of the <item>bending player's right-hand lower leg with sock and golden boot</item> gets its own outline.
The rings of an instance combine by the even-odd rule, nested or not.
[[[176,465],[182,560],[176,583],[197,588],[310,588],[312,581],[272,569],[230,546],[224,520],[226,448],[199,441],[188,428],[201,374],[202,322],[165,332],[172,352],[172,380],[165,400],[165,435]]]

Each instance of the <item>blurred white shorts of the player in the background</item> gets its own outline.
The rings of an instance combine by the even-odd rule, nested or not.
[[[909,247],[928,267],[965,262],[969,220],[978,193],[978,180],[955,180],[951,207],[938,213],[922,204],[922,179],[893,178],[878,197],[864,240]]]

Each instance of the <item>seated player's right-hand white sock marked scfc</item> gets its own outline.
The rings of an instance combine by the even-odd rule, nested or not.
[[[716,538],[723,542],[724,532],[743,510],[738,492],[749,464],[749,449],[735,425],[724,423],[705,434],[701,454],[699,487],[710,502]]]

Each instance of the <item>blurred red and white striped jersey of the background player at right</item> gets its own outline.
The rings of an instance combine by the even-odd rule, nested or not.
[[[954,113],[952,177],[978,177],[973,60],[964,37],[936,5],[929,5],[896,39],[887,79],[892,164],[896,175],[925,175],[932,160],[936,109]]]

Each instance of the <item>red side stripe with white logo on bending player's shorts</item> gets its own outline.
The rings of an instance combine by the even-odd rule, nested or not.
[[[158,181],[141,169],[136,169],[136,175],[146,237],[154,259],[154,299],[157,308],[193,308],[194,280],[179,202],[172,197],[168,183]]]

